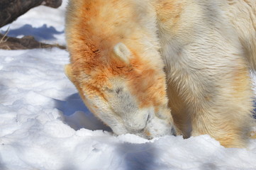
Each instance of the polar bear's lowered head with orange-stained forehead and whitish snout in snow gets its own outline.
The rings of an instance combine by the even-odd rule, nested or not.
[[[144,60],[122,42],[92,57],[77,56],[65,73],[89,110],[116,135],[145,138],[174,135],[162,67]]]

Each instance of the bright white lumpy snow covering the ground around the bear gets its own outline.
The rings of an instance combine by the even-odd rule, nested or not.
[[[66,3],[30,10],[11,24],[10,35],[65,44]],[[256,140],[247,149],[227,149],[208,135],[113,135],[65,76],[68,62],[57,48],[0,50],[1,170],[256,169]]]

